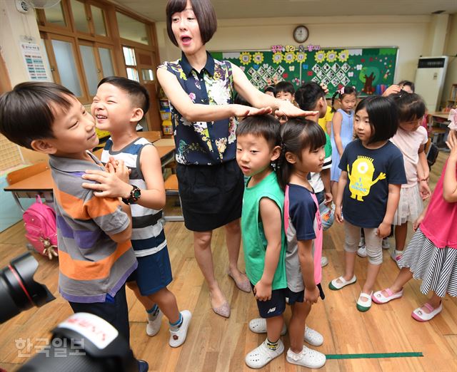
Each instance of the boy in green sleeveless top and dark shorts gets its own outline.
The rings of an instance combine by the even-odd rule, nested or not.
[[[286,241],[283,229],[284,194],[271,162],[281,154],[280,124],[271,115],[248,116],[236,130],[236,161],[248,176],[243,195],[241,234],[246,275],[266,319],[267,338],[246,355],[246,364],[261,368],[280,356],[279,339],[286,308]]]

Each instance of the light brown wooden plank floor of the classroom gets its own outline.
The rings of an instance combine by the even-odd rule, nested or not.
[[[433,166],[432,184],[438,179],[447,154],[441,153]],[[182,222],[168,222],[165,227],[169,242],[174,281],[169,287],[181,309],[189,309],[192,322],[187,341],[181,348],[168,346],[166,319],[155,337],[146,336],[144,309],[128,290],[131,321],[131,346],[136,357],[149,361],[150,371],[248,371],[244,356],[258,346],[263,335],[252,334],[248,321],[258,316],[252,294],[238,291],[226,275],[227,252],[224,230],[214,233],[213,252],[216,276],[231,303],[230,319],[211,311],[209,291],[201,275],[192,247],[192,235]],[[0,234],[0,267],[25,252],[24,228],[21,223]],[[343,270],[343,229],[334,225],[324,234],[324,252],[330,264],[323,269],[323,288]],[[391,240],[393,244],[393,240]],[[31,352],[43,344],[38,339],[49,338],[49,331],[71,314],[70,306],[57,292],[58,263],[35,255],[39,261],[36,280],[46,284],[57,299],[41,308],[24,311],[0,326],[0,367],[14,371],[20,363],[21,350],[16,341],[29,339]],[[240,256],[243,267],[243,257]],[[398,274],[396,264],[384,251],[384,263],[376,282],[376,289],[391,284]],[[358,281],[341,291],[326,290],[325,301],[313,306],[308,325],[324,336],[323,346],[316,349],[326,354],[421,352],[414,358],[365,358],[328,360],[321,371],[457,371],[457,299],[447,296],[443,312],[426,324],[411,318],[411,311],[426,301],[419,291],[419,281],[406,285],[403,299],[360,313],[355,301],[366,277],[366,259],[357,258]],[[290,309],[286,310],[286,321]],[[16,341],[15,341],[16,340]],[[287,335],[283,341],[288,347]],[[26,351],[22,351],[26,353]],[[306,368],[286,362],[285,355],[276,358],[264,371],[306,371]]]

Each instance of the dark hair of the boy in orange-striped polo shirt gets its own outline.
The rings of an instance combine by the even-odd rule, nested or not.
[[[0,133],[11,142],[31,148],[33,140],[54,138],[56,108],[64,112],[76,97],[56,83],[20,83],[0,96]]]

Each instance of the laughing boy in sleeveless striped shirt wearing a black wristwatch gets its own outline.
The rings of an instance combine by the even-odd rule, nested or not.
[[[136,125],[148,108],[149,94],[136,81],[117,76],[100,81],[91,111],[97,128],[111,134],[101,161],[116,171],[89,170],[84,178],[98,183],[83,186],[100,190],[96,196],[122,197],[131,205],[131,244],[139,264],[127,279],[127,286],[146,309],[146,334],[159,332],[165,314],[170,326],[169,345],[178,347],[186,340],[191,312],[179,311],[176,297],[167,289],[173,277],[161,223],[165,205],[161,161],[156,148],[136,133]],[[121,171],[124,165],[129,172]]]

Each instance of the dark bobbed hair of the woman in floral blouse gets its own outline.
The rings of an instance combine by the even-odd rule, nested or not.
[[[210,0],[190,0],[197,22],[199,23],[201,41],[206,44],[217,30],[216,12]],[[169,0],[166,4],[166,32],[174,45],[179,46],[171,29],[171,16],[186,9],[186,0]]]

